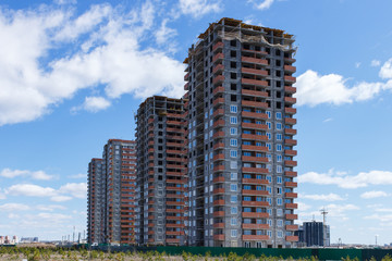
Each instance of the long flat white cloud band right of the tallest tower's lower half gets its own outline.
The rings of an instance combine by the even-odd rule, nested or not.
[[[341,188],[358,188],[368,185],[392,185],[392,172],[370,171],[357,175],[346,175],[330,170],[328,173],[308,172],[298,176],[299,183],[336,185]]]

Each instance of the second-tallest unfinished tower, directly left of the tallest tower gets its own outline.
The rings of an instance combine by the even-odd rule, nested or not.
[[[137,110],[137,235],[140,245],[185,245],[186,113],[183,99],[150,97]]]

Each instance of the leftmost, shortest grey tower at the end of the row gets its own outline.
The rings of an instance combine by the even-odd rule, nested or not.
[[[87,177],[87,241],[101,243],[103,229],[102,209],[102,159],[94,158],[88,163]]]

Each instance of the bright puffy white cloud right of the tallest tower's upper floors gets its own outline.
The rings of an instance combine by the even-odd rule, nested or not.
[[[297,92],[295,94],[297,104],[309,107],[321,103],[341,105],[369,100],[381,90],[392,88],[392,80],[387,83],[360,82],[351,88],[346,86],[346,82],[347,79],[339,74],[319,75],[317,72],[308,70],[297,77]]]

